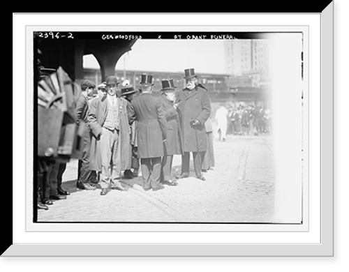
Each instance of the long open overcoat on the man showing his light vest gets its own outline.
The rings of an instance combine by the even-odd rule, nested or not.
[[[101,157],[101,140],[100,134],[103,124],[107,118],[107,96],[94,99],[89,107],[89,115],[87,122],[91,128],[93,135],[91,139],[90,162],[89,168],[94,171],[102,171],[102,157]],[[119,99],[119,141],[118,141],[118,160],[121,162],[121,170],[131,169],[131,144],[130,144],[130,127],[129,124],[133,122],[134,116],[130,114],[128,102],[124,98]]]

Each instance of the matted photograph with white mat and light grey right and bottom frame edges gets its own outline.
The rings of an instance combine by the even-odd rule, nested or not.
[[[14,14],[1,257],[332,256],[333,18]]]

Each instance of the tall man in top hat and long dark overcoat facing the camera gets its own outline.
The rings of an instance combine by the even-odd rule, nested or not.
[[[181,135],[184,155],[181,156],[181,176],[189,176],[190,153],[193,153],[195,175],[202,176],[201,163],[207,150],[205,122],[209,118],[211,106],[209,94],[197,81],[193,68],[185,69],[186,88],[179,91],[179,109],[181,111]]]

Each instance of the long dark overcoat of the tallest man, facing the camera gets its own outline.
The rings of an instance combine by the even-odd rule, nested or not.
[[[181,112],[183,151],[206,151],[207,139],[205,122],[209,118],[211,112],[208,91],[198,86],[195,86],[195,89],[190,93],[188,89],[183,89],[178,93],[178,100],[178,102],[181,103],[179,109]],[[196,128],[191,126],[191,119],[198,119],[200,121],[200,126]],[[195,129],[197,137],[195,137]]]

